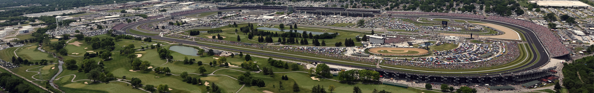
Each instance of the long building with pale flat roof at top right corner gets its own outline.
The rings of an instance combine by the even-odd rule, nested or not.
[[[532,4],[537,4],[540,6],[565,6],[565,7],[576,7],[576,8],[592,8],[592,6],[588,4],[584,4],[580,1],[528,1]]]

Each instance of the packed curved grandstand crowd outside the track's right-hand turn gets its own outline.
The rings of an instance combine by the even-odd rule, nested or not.
[[[489,16],[486,19],[506,22],[531,29],[535,32],[536,35],[538,35],[536,37],[538,37],[538,39],[542,42],[542,44],[548,50],[548,53],[551,55],[551,57],[560,57],[562,55],[570,53],[570,49],[565,47],[565,45],[561,43],[563,42],[563,40],[554,33],[552,33],[551,29],[546,28],[545,26],[534,24],[528,21],[522,21],[520,19],[506,18],[502,16]]]

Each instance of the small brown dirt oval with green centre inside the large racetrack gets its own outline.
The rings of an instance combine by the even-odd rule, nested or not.
[[[384,52],[391,52],[391,53],[381,53],[380,51]],[[410,51],[417,51],[416,54],[406,54],[406,52]],[[381,54],[381,55],[425,55],[429,53],[426,49],[421,48],[371,48],[369,52],[373,54]]]

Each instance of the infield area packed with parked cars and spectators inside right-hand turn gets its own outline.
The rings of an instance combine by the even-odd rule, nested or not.
[[[484,48],[484,49],[478,49],[480,51],[477,51],[477,53],[475,52],[469,52],[469,54],[463,54],[463,55],[456,55],[456,56],[449,56],[448,58],[456,58],[456,57],[460,57],[458,59],[476,59],[476,61],[472,61],[472,62],[451,62],[448,61],[448,58],[445,57],[426,57],[426,58],[411,58],[411,59],[392,59],[392,58],[385,58],[386,62],[384,62],[384,64],[390,64],[390,65],[405,65],[405,66],[411,66],[411,67],[420,67],[420,68],[432,68],[432,69],[475,69],[475,68],[485,68],[485,67],[492,67],[492,66],[496,66],[496,65],[501,65],[501,64],[506,64],[508,62],[513,61],[514,59],[516,59],[517,57],[519,57],[520,54],[520,49],[517,46],[516,43],[514,42],[505,42],[505,43],[501,43],[500,45],[493,45],[491,48],[500,48],[500,46],[503,46],[504,48],[502,49],[501,52],[503,52],[503,54],[494,54],[492,55],[494,58],[490,58],[490,59],[483,59],[483,58],[477,58],[476,56],[478,56],[480,53],[486,53],[486,52],[497,52],[497,51],[491,51],[489,48]],[[470,54],[472,53],[472,54]],[[474,56],[469,56],[469,55],[474,55]],[[463,58],[463,57],[469,57],[469,58]],[[481,60],[481,61],[478,61]],[[450,63],[447,63],[447,62]],[[469,60],[470,61],[470,60]]]

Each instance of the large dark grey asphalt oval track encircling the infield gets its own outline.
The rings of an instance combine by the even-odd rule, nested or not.
[[[218,10],[218,11],[228,11],[228,10]],[[211,12],[211,11],[205,11],[205,12]],[[198,13],[201,13],[201,12],[197,12],[197,13],[194,13],[194,14],[198,14]],[[186,14],[186,15],[192,15],[192,14]],[[179,16],[186,16],[186,15],[179,15]],[[394,16],[413,16],[413,17],[419,17],[419,15],[394,15]],[[502,73],[502,72],[505,72],[505,74],[510,74],[510,73],[516,74],[516,73],[523,72],[523,71],[529,71],[530,69],[538,69],[538,68],[542,67],[543,65],[545,65],[547,62],[549,62],[549,58],[550,57],[546,53],[546,51],[545,51],[543,45],[541,44],[541,42],[538,40],[538,38],[536,38],[536,35],[534,34],[534,32],[531,31],[530,29],[524,28],[522,26],[508,24],[508,23],[499,22],[499,21],[491,21],[491,20],[487,20],[487,19],[461,18],[461,17],[450,17],[450,16],[425,16],[425,17],[431,17],[431,18],[447,18],[447,19],[463,19],[463,20],[468,20],[468,21],[481,21],[481,22],[488,22],[488,23],[491,23],[491,24],[505,25],[505,26],[508,26],[508,27],[517,28],[525,36],[526,42],[528,43],[529,48],[531,49],[531,53],[533,55],[532,56],[532,60],[530,60],[528,64],[522,65],[521,67],[507,69],[505,71],[497,71],[497,72],[482,72],[482,73],[476,73],[476,74],[456,74],[456,75],[463,75],[463,76],[479,76],[479,75],[481,75],[481,76],[492,76],[492,75],[497,75],[498,73]],[[137,29],[136,27],[137,26],[140,26],[142,24],[150,23],[150,22],[163,21],[165,19],[170,19],[170,18],[156,19],[156,20],[152,20],[152,21],[146,21],[146,22],[140,22],[140,23],[137,23],[137,24],[132,24],[132,25],[126,26],[124,28],[124,30],[125,30],[125,32],[127,34],[137,35],[137,36],[144,36],[144,37],[151,37],[151,38],[154,38],[154,39],[161,39],[161,40],[165,40],[165,41],[180,42],[180,43],[185,43],[185,44],[199,45],[199,46],[203,46],[203,47],[212,47],[212,48],[219,48],[219,49],[227,49],[227,50],[230,50],[230,51],[241,51],[241,52],[247,52],[247,53],[252,53],[252,54],[267,55],[267,56],[271,56],[271,57],[290,58],[290,59],[298,59],[298,60],[301,60],[301,61],[318,62],[318,63],[331,64],[331,65],[340,65],[340,66],[343,66],[343,67],[354,67],[354,68],[363,68],[363,69],[380,69],[380,70],[385,70],[385,71],[407,72],[407,73],[412,73],[412,74],[446,75],[446,76],[447,75],[454,75],[454,74],[451,74],[451,73],[450,74],[446,74],[446,73],[435,74],[435,73],[424,73],[424,72],[400,71],[400,70],[394,70],[394,69],[383,69],[383,68],[374,68],[374,67],[362,67],[362,66],[357,66],[357,65],[337,64],[337,63],[334,63],[334,62],[317,61],[317,60],[314,60],[314,59],[295,58],[295,57],[287,57],[287,56],[282,56],[282,55],[271,55],[271,54],[266,54],[266,53],[263,53],[263,52],[248,51],[248,50],[244,50],[244,49],[233,49],[233,48],[225,48],[225,47],[212,46],[212,45],[197,44],[197,42],[194,42],[194,41],[187,41],[187,40],[175,39],[175,38],[165,38],[165,37],[161,37],[159,35],[147,36],[147,35],[132,34],[132,33],[128,32],[129,29],[134,29],[136,31],[146,32],[144,30]],[[530,53],[530,51],[528,51],[528,52]],[[538,58],[536,55],[540,55],[541,56],[538,62],[536,62],[536,59]],[[535,62],[536,62],[536,64],[534,64]],[[532,64],[534,64],[534,65],[532,65]],[[489,74],[489,75],[484,75],[484,74]]]

